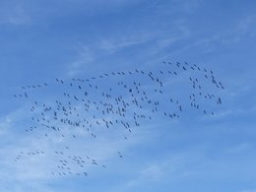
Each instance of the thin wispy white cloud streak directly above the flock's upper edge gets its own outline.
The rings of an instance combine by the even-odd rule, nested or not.
[[[160,52],[164,52],[169,46],[189,35],[189,30],[184,25],[175,24],[175,26],[178,26],[175,31],[167,32],[163,36],[161,32],[131,32],[131,34],[127,33],[121,36],[116,34],[112,37],[98,39],[94,43],[85,46],[79,45],[76,48],[78,51],[77,58],[74,58],[74,62],[66,65],[68,77],[75,77],[87,71],[91,66],[100,66],[100,70],[103,70],[103,68],[107,68],[107,65],[116,65],[112,61],[116,61],[118,58],[122,62],[125,61],[127,65],[130,63],[129,66],[136,66],[138,58],[140,60],[144,58],[140,66],[154,65],[160,60],[160,57],[162,58]],[[141,46],[145,46],[145,48],[139,48]],[[122,58],[120,58],[119,52],[131,48],[135,54],[134,57],[122,55]],[[128,54],[129,51],[127,51]]]

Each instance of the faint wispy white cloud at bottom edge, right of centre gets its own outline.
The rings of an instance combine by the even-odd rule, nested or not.
[[[159,184],[162,181],[175,180],[176,178],[185,179],[188,176],[198,174],[200,170],[196,170],[195,166],[191,164],[197,164],[199,157],[202,156],[198,152],[182,152],[171,154],[167,158],[158,161],[149,162],[146,165],[142,165],[136,172],[133,173],[133,177],[116,191],[130,191],[138,186]],[[198,167],[197,167],[198,168]]]

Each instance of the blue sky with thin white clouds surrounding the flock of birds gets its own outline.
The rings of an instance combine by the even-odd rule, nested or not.
[[[255,13],[252,0],[0,1],[0,191],[256,191]],[[22,86],[157,71],[163,60],[215,72],[225,86],[215,116],[187,110],[173,121],[142,123],[128,142],[115,131],[74,144],[74,154],[85,148],[107,164],[89,166],[87,178],[52,176],[51,154],[13,161],[21,150],[59,144],[25,133],[29,103],[13,98]],[[165,81],[183,98],[178,85],[186,74],[179,77]],[[49,87],[33,95],[47,101],[59,92]]]

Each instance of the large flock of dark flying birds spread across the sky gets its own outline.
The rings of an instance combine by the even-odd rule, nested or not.
[[[55,79],[23,86],[14,97],[29,105],[32,117],[25,133],[43,142],[58,140],[61,147],[52,148],[52,152],[23,150],[15,161],[51,154],[56,160],[52,175],[88,176],[89,164],[107,166],[92,156],[74,154],[72,144],[99,142],[106,132],[118,133],[125,142],[143,123],[156,118],[178,119],[189,108],[215,115],[214,108],[222,104],[222,98],[211,93],[213,88],[216,92],[224,90],[213,71],[196,64],[165,61],[154,71],[115,71],[89,79]],[[116,156],[124,158],[119,151]]]

